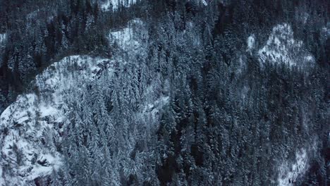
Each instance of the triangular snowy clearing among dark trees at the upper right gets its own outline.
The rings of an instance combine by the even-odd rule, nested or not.
[[[258,51],[260,63],[286,63],[288,66],[305,66],[314,62],[302,41],[293,37],[291,25],[276,25],[267,43]]]

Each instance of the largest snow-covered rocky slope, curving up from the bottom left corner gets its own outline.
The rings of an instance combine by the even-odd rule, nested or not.
[[[61,139],[63,95],[78,80],[92,79],[100,63],[88,56],[69,56],[37,75],[36,92],[18,96],[0,116],[0,185],[27,185],[61,166],[54,139]]]

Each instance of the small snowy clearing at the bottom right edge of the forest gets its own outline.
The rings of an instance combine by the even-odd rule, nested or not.
[[[295,154],[293,163],[284,162],[279,168],[279,186],[294,185],[296,180],[302,176],[308,168],[307,152],[305,149]]]

